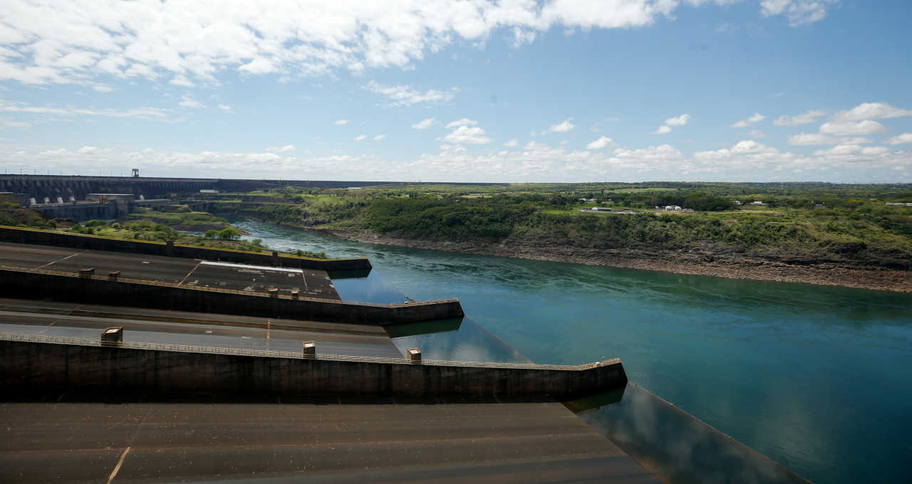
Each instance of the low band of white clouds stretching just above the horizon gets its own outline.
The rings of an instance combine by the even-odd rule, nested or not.
[[[465,127],[472,129],[473,127]],[[751,139],[730,148],[698,151],[688,156],[668,144],[646,148],[608,150],[567,149],[530,142],[523,149],[472,153],[460,144],[444,142],[437,152],[385,160],[375,155],[332,154],[296,156],[289,153],[181,152],[156,149],[104,149],[79,153],[67,149],[9,149],[0,157],[35,170],[63,170],[78,174],[91,170],[148,167],[149,176],[211,176],[223,178],[283,178],[306,170],[311,178],[379,180],[389,172],[409,173],[420,180],[452,181],[637,181],[668,178],[683,180],[897,180],[912,172],[905,151],[841,143],[811,155],[783,152]],[[479,170],[484,167],[484,170]],[[845,175],[839,175],[845,173]],[[297,175],[295,175],[297,174]],[[837,176],[839,175],[839,176]]]

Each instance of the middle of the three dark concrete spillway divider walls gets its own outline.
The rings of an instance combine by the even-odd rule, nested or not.
[[[100,276],[0,268],[4,297],[46,299],[86,304],[126,305],[195,313],[239,314],[352,324],[419,323],[462,317],[459,300],[409,304],[349,303],[328,299],[269,297],[202,287],[109,281]]]

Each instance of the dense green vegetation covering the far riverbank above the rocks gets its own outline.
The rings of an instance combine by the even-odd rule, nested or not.
[[[221,200],[213,201],[212,211],[226,216],[298,227],[367,229],[413,239],[699,250],[793,263],[912,268],[912,206],[886,204],[912,202],[912,185],[907,184],[287,187],[223,194]],[[693,211],[655,210],[666,205]],[[579,211],[594,206],[640,212]]]

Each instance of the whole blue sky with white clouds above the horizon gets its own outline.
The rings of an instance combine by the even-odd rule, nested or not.
[[[0,170],[912,181],[912,4],[19,2]]]

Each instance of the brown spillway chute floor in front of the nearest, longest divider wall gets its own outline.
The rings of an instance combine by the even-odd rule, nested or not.
[[[661,482],[559,403],[6,403],[0,434],[16,482]]]

